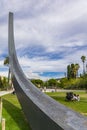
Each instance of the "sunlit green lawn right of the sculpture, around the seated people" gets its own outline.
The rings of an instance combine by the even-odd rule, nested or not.
[[[87,93],[84,91],[82,92],[74,92],[80,95],[80,101],[66,101],[66,92],[48,92],[47,95],[55,99],[56,101],[64,104],[65,106],[69,107],[72,110],[75,110],[82,115],[87,116]]]

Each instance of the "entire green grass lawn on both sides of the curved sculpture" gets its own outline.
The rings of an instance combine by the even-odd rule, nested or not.
[[[49,92],[47,95],[65,106],[87,116],[87,93],[75,92],[80,95],[80,101],[65,101],[66,92]],[[3,99],[3,118],[6,120],[6,130],[31,130],[16,95],[8,94]],[[1,130],[1,124],[0,124]]]

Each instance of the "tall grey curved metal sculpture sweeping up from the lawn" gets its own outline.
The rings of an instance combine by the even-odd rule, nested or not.
[[[24,75],[14,46],[13,13],[9,13],[9,64],[12,82],[32,130],[87,130],[87,118],[56,102]]]

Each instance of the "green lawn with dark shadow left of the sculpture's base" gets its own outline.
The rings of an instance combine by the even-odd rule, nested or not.
[[[2,101],[2,116],[6,120],[6,130],[31,130],[16,95],[5,95]]]

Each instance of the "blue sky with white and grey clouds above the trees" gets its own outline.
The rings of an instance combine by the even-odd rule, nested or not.
[[[7,76],[8,14],[17,57],[28,78],[62,78],[87,56],[87,0],[0,0],[0,75]],[[85,62],[86,63],[86,62]]]

